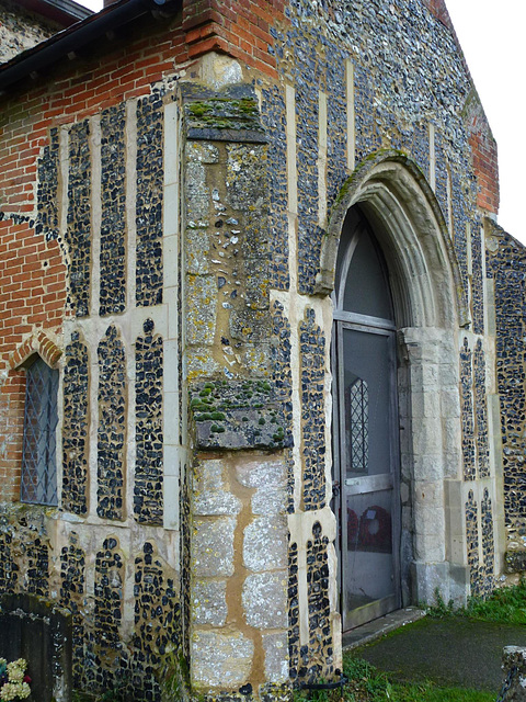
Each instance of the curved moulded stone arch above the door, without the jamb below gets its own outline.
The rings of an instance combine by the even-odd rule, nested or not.
[[[460,271],[439,204],[416,163],[399,151],[375,152],[343,184],[328,218],[316,294],[328,295],[334,288],[343,223],[358,203],[370,207],[390,233],[388,246],[395,253],[390,263],[398,268],[395,279],[403,284],[409,272],[419,278],[418,285],[399,296],[404,307],[398,310],[401,326],[467,326]]]

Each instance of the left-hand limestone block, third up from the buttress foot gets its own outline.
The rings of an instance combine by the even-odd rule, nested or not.
[[[233,575],[236,518],[195,519],[192,563],[197,577]]]

